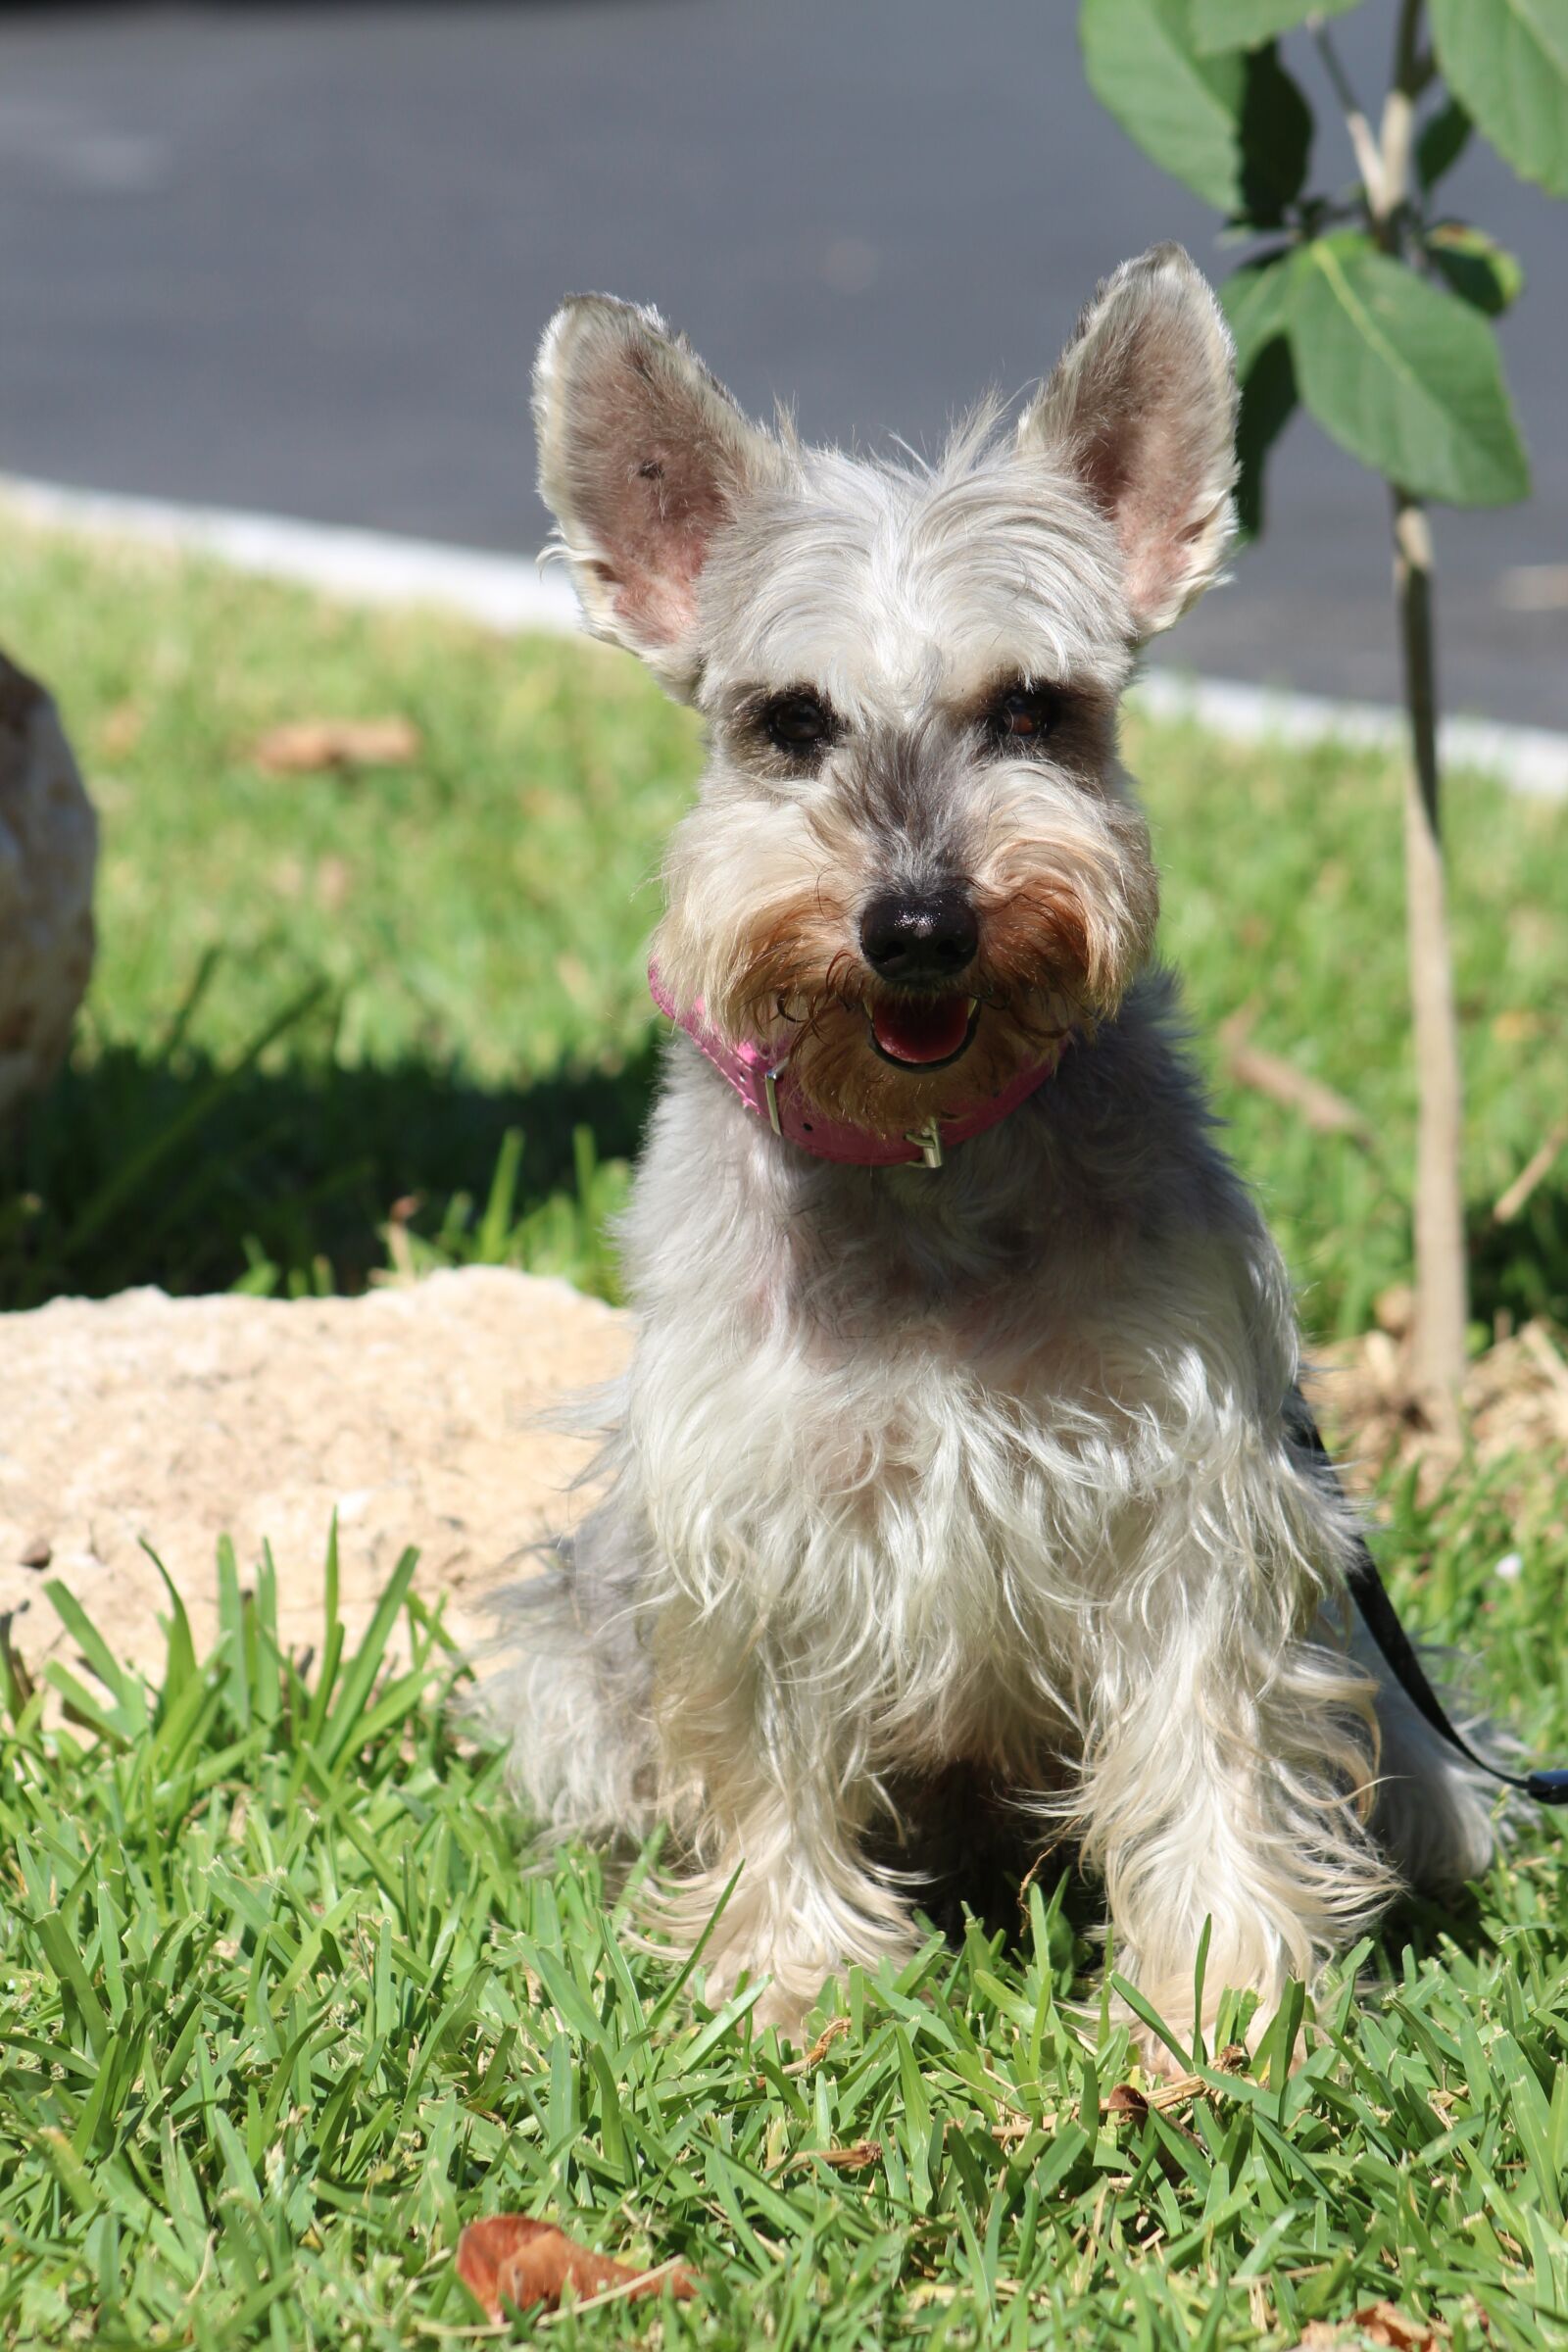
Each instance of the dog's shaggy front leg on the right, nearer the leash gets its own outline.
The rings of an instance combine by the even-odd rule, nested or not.
[[[1218,1611],[1215,1611],[1218,1618]],[[1110,1898],[1114,1966],[1178,2042],[1255,1992],[1255,2039],[1291,1978],[1312,1980],[1389,1900],[1371,1844],[1371,1686],[1305,1639],[1220,1621],[1182,1628],[1107,1677],[1114,1705],[1091,1743],[1084,1851]],[[1168,2051],[1145,2037],[1154,2065]]]

